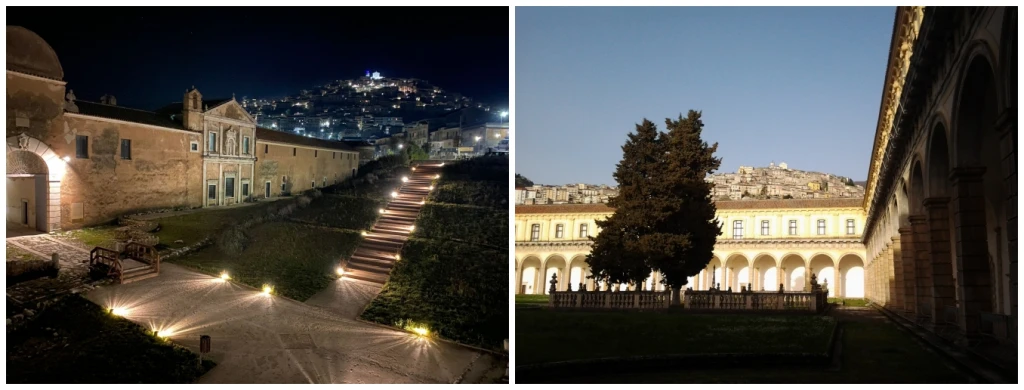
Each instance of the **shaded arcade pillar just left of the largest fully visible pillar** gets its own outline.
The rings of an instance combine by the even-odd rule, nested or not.
[[[932,323],[941,323],[946,306],[956,305],[952,256],[949,253],[949,199],[925,200],[928,214],[928,254],[932,262],[932,298],[935,302]]]

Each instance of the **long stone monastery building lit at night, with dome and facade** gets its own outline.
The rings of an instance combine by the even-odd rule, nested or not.
[[[355,174],[358,151],[256,127],[231,98],[194,88],[156,112],[78,100],[56,53],[7,27],[7,223],[41,231],[122,214],[218,207],[323,187]]]

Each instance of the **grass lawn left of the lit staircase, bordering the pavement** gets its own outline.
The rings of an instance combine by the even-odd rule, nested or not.
[[[269,284],[275,294],[305,301],[337,278],[339,260],[350,256],[361,240],[356,232],[291,222],[263,223],[247,234],[241,254],[211,246],[171,262],[214,275],[226,270],[241,284]]]

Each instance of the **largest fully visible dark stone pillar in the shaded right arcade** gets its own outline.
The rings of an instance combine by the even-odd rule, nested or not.
[[[985,168],[955,168],[949,175],[953,188],[951,211],[956,223],[956,284],[961,302],[959,326],[964,335],[978,334],[982,311],[992,311],[992,277],[988,265],[985,227]]]

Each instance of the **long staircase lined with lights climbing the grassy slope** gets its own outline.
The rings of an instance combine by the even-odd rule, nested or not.
[[[430,193],[430,185],[440,172],[441,165],[437,163],[415,167],[409,181],[396,191],[397,197],[391,198],[384,214],[364,233],[362,242],[343,266],[342,279],[380,285],[387,280],[395,261],[400,261],[401,247],[412,234],[420,208]]]

